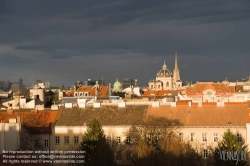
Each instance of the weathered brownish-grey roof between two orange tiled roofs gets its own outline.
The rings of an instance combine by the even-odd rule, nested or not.
[[[102,125],[133,125],[141,124],[146,116],[148,106],[101,106],[101,108],[86,107],[80,109],[74,107],[65,109],[61,107],[55,120],[55,126],[83,126],[94,118]]]

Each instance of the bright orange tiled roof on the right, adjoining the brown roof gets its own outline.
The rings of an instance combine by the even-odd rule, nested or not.
[[[215,105],[198,107],[196,104],[192,103],[191,107],[185,105],[176,107],[162,105],[156,108],[149,106],[148,115],[179,119],[184,126],[227,126],[228,122],[231,122],[232,126],[246,126],[246,102],[224,107]],[[250,113],[250,110],[248,112]],[[249,120],[248,117],[247,121]]]

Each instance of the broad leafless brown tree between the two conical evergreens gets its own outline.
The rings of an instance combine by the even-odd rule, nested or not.
[[[180,141],[178,120],[148,116],[143,124],[128,132],[135,146],[133,165],[202,165],[202,156],[189,142]]]

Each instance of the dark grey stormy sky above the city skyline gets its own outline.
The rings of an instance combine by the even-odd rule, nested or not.
[[[0,81],[147,86],[175,52],[184,83],[248,77],[250,1],[0,0]]]

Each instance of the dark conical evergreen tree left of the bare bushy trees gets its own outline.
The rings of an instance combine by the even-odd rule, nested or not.
[[[88,166],[115,165],[114,151],[106,141],[101,124],[97,119],[87,125],[80,149],[86,151],[85,162]]]

